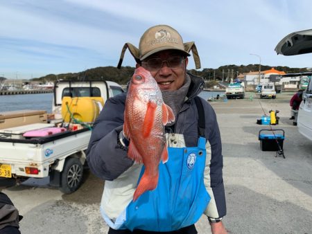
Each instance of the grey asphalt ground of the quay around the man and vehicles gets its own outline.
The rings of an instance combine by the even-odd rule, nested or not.
[[[217,100],[214,107],[223,141],[223,179],[229,233],[312,233],[312,141],[292,125],[289,100],[293,93],[279,93],[275,100],[246,93],[244,100]],[[284,129],[284,155],[262,151],[257,119],[279,110]],[[19,213],[21,233],[107,233],[99,213],[104,181],[88,170],[81,188],[63,195],[46,186],[46,180],[28,180],[6,188]],[[196,224],[198,233],[211,233],[206,217]]]

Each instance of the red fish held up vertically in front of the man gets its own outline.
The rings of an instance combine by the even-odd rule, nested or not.
[[[124,117],[123,132],[130,139],[128,157],[145,166],[133,195],[136,201],[144,192],[157,187],[159,162],[168,161],[164,125],[175,120],[172,109],[162,100],[157,82],[141,66],[131,78]]]

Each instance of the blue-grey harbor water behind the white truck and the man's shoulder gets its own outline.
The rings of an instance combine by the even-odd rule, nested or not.
[[[220,91],[202,91],[200,97],[205,100],[224,96]],[[51,113],[53,93],[36,93],[0,96],[0,112],[22,109],[40,109]]]

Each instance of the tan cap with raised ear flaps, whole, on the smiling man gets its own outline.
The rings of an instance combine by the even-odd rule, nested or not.
[[[200,57],[195,43],[183,43],[182,37],[179,33],[177,33],[177,30],[168,25],[157,25],[148,28],[148,30],[146,30],[141,36],[139,48],[129,42],[126,42],[121,50],[121,55],[117,65],[118,69],[121,68],[123,56],[125,55],[127,48],[138,64],[140,64],[142,60],[146,59],[146,57],[159,51],[177,50],[181,51],[186,56],[190,56],[189,52],[192,51],[196,69],[200,69]]]

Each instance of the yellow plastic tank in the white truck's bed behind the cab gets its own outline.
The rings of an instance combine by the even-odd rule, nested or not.
[[[62,118],[65,123],[92,123],[104,105],[101,97],[64,97],[62,98]]]

